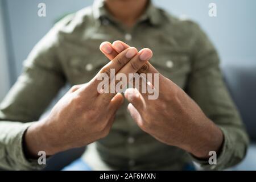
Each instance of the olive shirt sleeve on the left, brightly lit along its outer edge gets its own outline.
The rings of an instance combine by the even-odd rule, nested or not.
[[[66,20],[67,22],[67,20]],[[62,22],[63,23],[63,22]],[[60,63],[57,23],[32,49],[24,70],[0,105],[0,167],[3,169],[40,169],[37,161],[23,153],[23,134],[65,84]]]

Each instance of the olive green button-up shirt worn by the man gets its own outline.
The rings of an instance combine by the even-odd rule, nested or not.
[[[114,40],[138,49],[152,49],[151,64],[184,89],[220,127],[224,143],[217,165],[211,166],[208,161],[193,158],[144,133],[127,113],[125,102],[108,137],[90,145],[82,156],[89,166],[179,170],[196,162],[203,169],[224,169],[241,162],[249,143],[247,134],[222,80],[216,49],[201,28],[191,20],[175,18],[151,2],[135,26],[127,28],[108,13],[103,1],[96,1],[56,23],[24,61],[22,75],[1,103],[1,168],[44,167],[24,156],[24,132],[39,120],[66,83],[88,82],[108,63],[99,46]]]

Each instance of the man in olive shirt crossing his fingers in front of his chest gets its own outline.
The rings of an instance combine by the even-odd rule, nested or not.
[[[96,52],[100,44],[106,57]],[[197,24],[147,0],[96,1],[57,23],[28,56],[1,105],[0,166],[40,169],[39,151],[51,156],[88,144],[81,161],[90,169],[234,166],[248,138],[218,64]],[[159,98],[130,88],[122,104],[120,93],[98,93],[100,73],[112,68],[125,75],[159,73]],[[65,82],[75,86],[33,122]],[[210,151],[217,154],[213,166]]]

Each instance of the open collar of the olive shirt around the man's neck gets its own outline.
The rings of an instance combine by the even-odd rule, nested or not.
[[[161,18],[160,18],[160,11],[158,8],[156,8],[151,0],[148,0],[148,6],[144,14],[139,18],[139,21],[143,20],[149,20],[150,23],[154,26],[157,26],[161,23]],[[109,19],[113,19],[113,16],[110,15],[108,10],[106,10],[105,5],[104,5],[104,0],[94,0],[93,3],[93,17],[94,19],[101,19],[102,17],[106,17]]]

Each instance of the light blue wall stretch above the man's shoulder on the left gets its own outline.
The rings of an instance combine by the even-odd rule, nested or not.
[[[22,62],[35,44],[49,31],[57,19],[73,13],[93,1],[85,0],[3,0],[7,5],[10,34],[13,44],[16,76],[22,71]],[[47,16],[38,16],[38,4],[46,3]],[[10,39],[9,39],[10,40]]]

